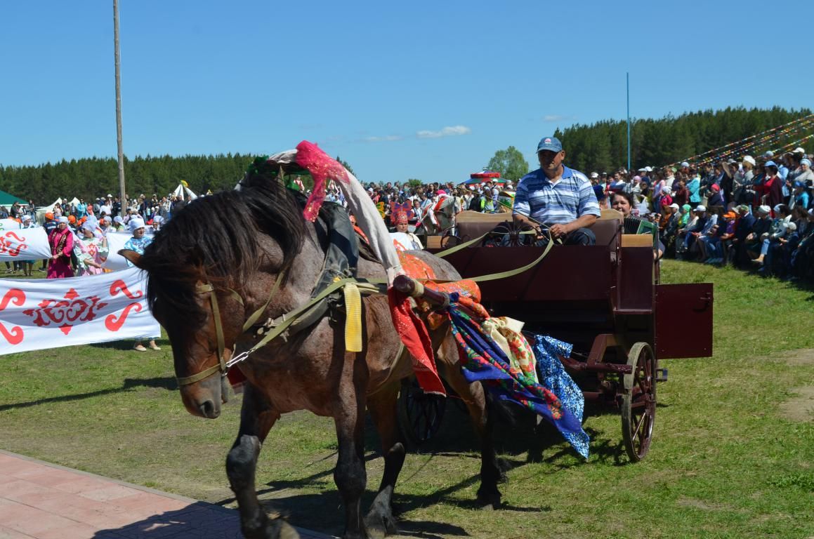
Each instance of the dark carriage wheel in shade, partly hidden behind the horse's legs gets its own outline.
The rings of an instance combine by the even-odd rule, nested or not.
[[[405,439],[420,446],[435,436],[444,419],[447,399],[424,393],[414,378],[402,380],[399,393],[399,428]]]

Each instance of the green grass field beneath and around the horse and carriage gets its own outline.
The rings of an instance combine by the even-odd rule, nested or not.
[[[440,435],[409,454],[401,473],[402,530],[421,537],[814,537],[814,292],[698,264],[665,261],[662,273],[667,283],[715,283],[715,355],[663,362],[670,381],[659,385],[644,461],[628,464],[618,415],[587,420],[587,463],[521,416],[497,429],[509,468],[505,507],[480,511],[473,503],[477,444],[449,406]],[[233,506],[223,464],[239,398],[220,419],[188,415],[168,342],[159,344],[160,352],[121,342],[2,356],[0,447]],[[371,490],[382,459],[374,433],[367,436]],[[283,417],[257,472],[269,511],[341,532],[335,447],[330,419]]]

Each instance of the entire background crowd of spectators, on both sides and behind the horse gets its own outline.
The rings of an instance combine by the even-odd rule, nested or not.
[[[652,221],[659,228],[659,255],[698,263],[733,265],[757,271],[762,276],[788,280],[814,280],[814,172],[811,157],[802,148],[775,156],[768,151],[759,157],[744,155],[740,161],[720,160],[694,166],[642,167],[637,172],[591,172],[590,181],[602,207],[624,210],[624,215]],[[292,189],[304,190],[300,178]],[[408,215],[410,232],[421,228],[427,213],[449,200],[453,213],[510,211],[514,185],[502,179],[482,183],[418,185],[416,182],[370,184],[370,198],[383,219],[396,229],[393,208],[403,219]],[[326,200],[343,203],[343,195],[330,185]],[[187,202],[178,197],[151,198],[143,194],[129,199],[125,216],[120,216],[119,198],[108,194],[90,202],[63,202],[46,212],[44,226],[53,229],[67,217],[78,243],[99,241],[107,230],[128,228],[130,220],[147,224],[147,234],[160,228],[173,211]],[[0,207],[0,218],[9,216],[34,226],[33,205]],[[405,211],[406,208],[409,210]],[[403,225],[403,223],[402,223]],[[90,249],[93,250],[93,249]],[[96,246],[101,252],[104,246]],[[87,257],[85,257],[87,259]],[[81,257],[74,269],[93,274],[98,260]],[[24,267],[11,268],[14,272]],[[29,272],[27,272],[29,273]]]

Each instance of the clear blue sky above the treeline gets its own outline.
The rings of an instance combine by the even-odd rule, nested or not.
[[[305,139],[364,181],[465,180],[496,150],[533,166],[555,128],[624,119],[625,72],[632,117],[814,108],[812,16],[783,0],[120,0],[125,154]],[[0,164],[115,157],[112,0],[2,2],[0,69]]]

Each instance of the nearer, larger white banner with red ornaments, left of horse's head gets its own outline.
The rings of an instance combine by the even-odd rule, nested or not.
[[[160,335],[138,267],[68,279],[0,279],[0,355]]]

